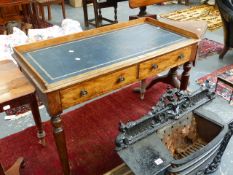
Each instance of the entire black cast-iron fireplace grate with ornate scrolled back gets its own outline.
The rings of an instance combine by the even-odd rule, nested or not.
[[[147,115],[120,123],[117,153],[136,175],[202,175],[215,171],[233,124],[219,123],[196,110],[214,97],[208,89],[191,95],[169,89]]]

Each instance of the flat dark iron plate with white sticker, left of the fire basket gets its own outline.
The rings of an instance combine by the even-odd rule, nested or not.
[[[162,175],[174,160],[155,133],[117,153],[135,175]]]

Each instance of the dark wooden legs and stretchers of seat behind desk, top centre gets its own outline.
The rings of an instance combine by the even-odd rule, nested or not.
[[[106,1],[82,0],[82,3],[83,3],[84,22],[86,27],[89,27],[89,24],[95,27],[103,26],[102,21],[107,21],[110,24],[117,23],[117,0],[106,0]],[[87,9],[88,4],[93,4],[94,19],[88,19],[88,9]],[[109,7],[114,8],[114,20],[102,16],[101,10],[103,8],[109,8]]]

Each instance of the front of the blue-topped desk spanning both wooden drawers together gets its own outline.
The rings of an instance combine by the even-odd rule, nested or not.
[[[62,110],[192,60],[193,45],[60,90]]]

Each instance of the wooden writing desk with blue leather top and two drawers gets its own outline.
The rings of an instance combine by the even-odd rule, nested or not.
[[[186,89],[198,41],[195,33],[142,18],[15,47],[51,116],[64,174],[70,174],[64,109],[183,64]]]

